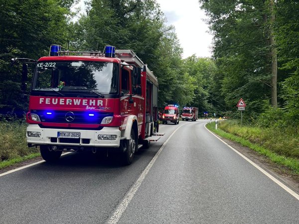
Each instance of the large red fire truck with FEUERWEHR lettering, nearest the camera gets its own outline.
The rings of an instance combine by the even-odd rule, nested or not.
[[[27,73],[24,63],[22,91]],[[157,93],[157,78],[132,50],[75,52],[51,45],[32,78],[28,147],[39,146],[46,161],[62,151],[118,150],[131,164],[141,147],[160,138]]]

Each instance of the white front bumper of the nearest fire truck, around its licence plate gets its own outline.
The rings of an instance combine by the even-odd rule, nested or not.
[[[28,137],[28,131],[40,132],[40,137]],[[80,138],[58,138],[57,132],[80,132]],[[99,140],[99,134],[117,135],[116,140]],[[101,130],[41,128],[38,124],[29,124],[26,131],[27,143],[31,145],[61,145],[86,147],[119,147],[121,131],[118,127],[103,127]]]

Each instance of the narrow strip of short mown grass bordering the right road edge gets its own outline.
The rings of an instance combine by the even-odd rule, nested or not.
[[[230,139],[230,140],[235,141],[237,143],[240,143],[243,146],[249,147],[250,149],[260,153],[261,155],[264,155],[264,156],[268,157],[272,162],[274,162],[278,165],[288,167],[295,174],[299,174],[299,159],[279,155],[279,154],[271,151],[270,149],[262,147],[259,144],[252,143],[252,142],[250,142],[249,140],[247,140],[243,137],[236,136],[234,134],[225,132],[225,131],[223,131],[219,128],[217,128],[217,130],[216,130],[215,129],[215,122],[208,123],[206,125],[206,127],[209,130],[211,130],[212,132],[216,133],[217,135],[219,135],[221,137],[224,137],[226,139]]]

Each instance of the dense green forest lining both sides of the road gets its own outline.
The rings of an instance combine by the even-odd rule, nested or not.
[[[240,116],[264,127],[299,125],[299,2],[297,0],[199,0],[208,16],[211,58],[182,58],[175,28],[155,0],[0,0],[1,119],[22,116],[21,64],[51,44],[69,50],[132,49],[159,82],[159,107],[193,106],[199,114]],[[17,71],[18,70],[18,71]],[[28,86],[30,77],[28,79]]]

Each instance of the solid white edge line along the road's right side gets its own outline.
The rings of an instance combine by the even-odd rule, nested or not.
[[[238,150],[234,149],[232,146],[230,146],[229,144],[227,144],[225,141],[223,141],[221,138],[219,138],[216,134],[214,134],[212,131],[210,131],[207,127],[206,124],[204,125],[204,127],[211,132],[216,138],[218,138],[220,141],[222,141],[225,145],[227,145],[228,147],[230,147],[232,150],[234,150],[236,153],[238,153],[240,156],[242,156],[247,162],[249,162],[251,165],[253,165],[255,168],[257,168],[259,171],[261,171],[263,174],[265,174],[267,177],[269,177],[272,181],[274,181],[275,183],[277,183],[280,187],[282,187],[283,189],[285,189],[289,194],[291,194],[292,196],[294,196],[297,200],[299,200],[299,195],[293,191],[292,189],[290,189],[288,186],[286,186],[284,183],[280,182],[278,179],[276,179],[274,176],[272,176],[270,173],[268,173],[266,170],[264,170],[263,168],[261,168],[259,165],[257,165],[256,163],[254,163],[253,161],[251,161],[249,158],[247,158],[245,155],[241,154]]]

